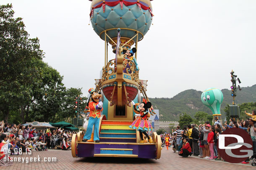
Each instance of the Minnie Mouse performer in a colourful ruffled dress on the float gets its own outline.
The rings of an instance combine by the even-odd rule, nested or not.
[[[152,106],[150,102],[147,102],[145,99],[143,99],[143,102],[141,104],[134,103],[132,101],[134,112],[139,114],[134,122],[129,126],[132,129],[136,129],[140,133],[141,141],[140,143],[144,143],[143,134],[148,138],[149,143],[152,143],[153,140],[149,135],[147,134],[147,131],[153,131],[153,127],[151,123],[148,120],[148,117],[150,117],[150,113],[148,112],[148,108]],[[138,109],[137,106],[139,105]],[[148,116],[149,115],[149,116]],[[143,133],[143,134],[142,134]]]

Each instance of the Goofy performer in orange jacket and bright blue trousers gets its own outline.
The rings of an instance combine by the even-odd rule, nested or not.
[[[89,122],[86,130],[86,134],[84,135],[83,142],[99,142],[99,118],[100,112],[103,110],[103,103],[100,101],[101,94],[98,94],[93,88],[89,89],[89,93],[91,96],[87,102],[87,106],[90,109],[89,114]],[[91,98],[91,101],[90,101]],[[89,102],[90,101],[90,102]],[[94,134],[92,134],[92,129],[94,125]],[[91,140],[90,140],[91,139]]]

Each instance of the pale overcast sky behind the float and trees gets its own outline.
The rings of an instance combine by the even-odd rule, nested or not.
[[[209,87],[230,89],[233,69],[256,84],[255,0],[153,0],[153,24],[138,43],[140,79],[149,97],[173,97]],[[95,87],[104,66],[104,41],[89,25],[89,0],[1,0],[12,3],[43,59],[67,88]],[[110,48],[109,48],[110,49]],[[110,50],[109,50],[110,51]],[[109,52],[109,59],[115,55]]]

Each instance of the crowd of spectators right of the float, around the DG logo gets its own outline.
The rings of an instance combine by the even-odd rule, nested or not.
[[[246,111],[245,111],[246,113]],[[204,124],[189,124],[184,126],[183,129],[177,126],[176,129],[172,129],[170,136],[170,143],[173,152],[178,152],[183,157],[188,155],[199,156],[209,160],[223,160],[217,150],[217,142],[219,140],[219,134],[222,134],[229,128],[240,128],[250,134],[253,141],[253,156],[241,163],[249,163],[249,159],[256,158],[256,111],[253,110],[252,114],[246,113],[251,118],[246,120],[233,120],[230,119],[230,123],[221,123],[217,117],[214,119],[214,124],[210,124],[206,121]],[[162,143],[165,143],[165,134],[161,134]],[[164,146],[164,145],[162,145]]]

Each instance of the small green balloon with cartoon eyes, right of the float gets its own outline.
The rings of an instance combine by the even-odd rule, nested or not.
[[[213,114],[220,114],[220,105],[223,101],[222,91],[216,88],[206,89],[201,95],[201,101],[212,110]]]

